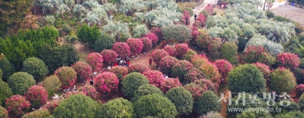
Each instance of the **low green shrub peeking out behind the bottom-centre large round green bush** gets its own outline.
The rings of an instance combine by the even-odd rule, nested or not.
[[[161,95],[164,95],[163,91],[154,85],[150,85],[150,84],[141,85],[136,91],[134,91],[134,97],[132,97],[131,101],[136,102],[141,96],[153,94],[153,93],[159,93]]]

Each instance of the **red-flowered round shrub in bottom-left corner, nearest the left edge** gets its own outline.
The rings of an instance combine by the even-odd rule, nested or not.
[[[29,110],[30,103],[21,95],[13,95],[6,100],[5,106],[10,114],[22,116],[22,114]]]

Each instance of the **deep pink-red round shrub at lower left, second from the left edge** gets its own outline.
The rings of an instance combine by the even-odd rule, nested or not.
[[[42,86],[34,85],[27,90],[24,97],[31,103],[31,107],[37,108],[48,101],[48,91]]]

